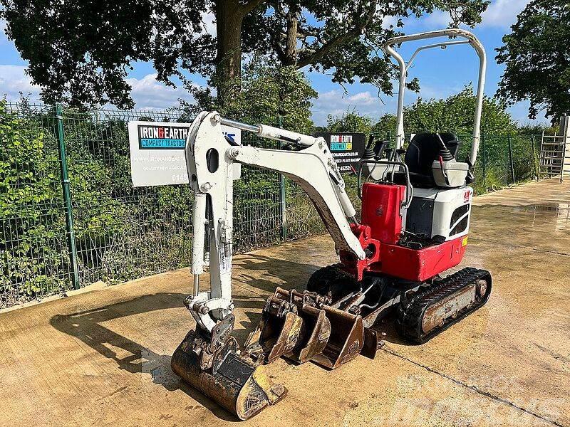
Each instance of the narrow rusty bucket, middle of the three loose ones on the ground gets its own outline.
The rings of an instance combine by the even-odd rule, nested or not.
[[[301,317],[303,318],[304,334],[299,345],[292,353],[286,354],[286,357],[298,363],[305,363],[326,347],[326,343],[331,337],[331,322],[327,319],[324,310],[310,305],[303,307]]]

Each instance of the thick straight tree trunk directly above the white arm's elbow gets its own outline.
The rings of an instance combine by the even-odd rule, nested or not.
[[[216,1],[217,90],[218,100],[232,92],[242,71],[242,22],[244,14],[238,0]]]

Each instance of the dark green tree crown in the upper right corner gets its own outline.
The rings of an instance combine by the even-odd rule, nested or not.
[[[506,65],[497,95],[509,104],[529,100],[530,118],[544,112],[554,124],[570,111],[569,41],[570,1],[530,1],[497,49]]]

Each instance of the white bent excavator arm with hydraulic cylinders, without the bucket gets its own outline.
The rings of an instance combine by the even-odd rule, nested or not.
[[[296,151],[230,144],[222,133],[222,124],[293,144]],[[233,309],[233,176],[236,162],[279,172],[295,181],[313,201],[337,250],[349,251],[358,259],[366,258],[347,219],[355,223],[356,211],[323,138],[265,125],[252,127],[225,120],[217,112],[202,112],[190,128],[186,162],[195,193],[192,221],[194,292],[187,299],[187,306],[203,330],[212,332],[217,322]],[[204,270],[204,255],[208,252],[210,290],[198,292],[199,275]]]

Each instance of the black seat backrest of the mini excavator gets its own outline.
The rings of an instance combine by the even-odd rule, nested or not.
[[[452,133],[440,133],[440,136],[452,156],[455,157],[460,144],[457,136]],[[410,175],[418,174],[431,181],[433,179],[432,163],[440,156],[440,148],[441,143],[437,134],[427,132],[416,134],[404,158]]]

